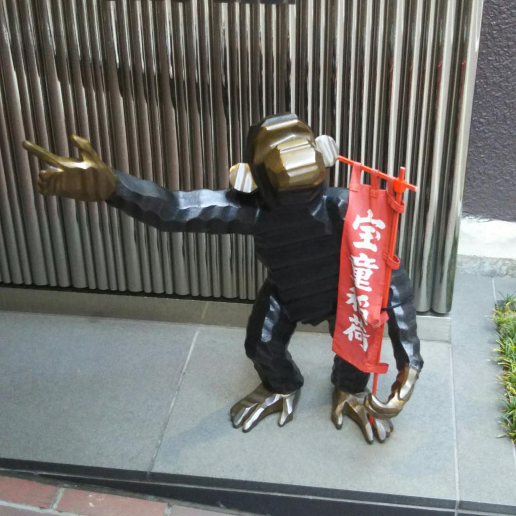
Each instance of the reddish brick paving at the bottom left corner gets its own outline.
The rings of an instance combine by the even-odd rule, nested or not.
[[[91,489],[91,488],[89,488]],[[101,491],[0,476],[0,516],[220,516],[227,514]]]

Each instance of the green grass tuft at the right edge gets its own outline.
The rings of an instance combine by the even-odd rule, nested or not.
[[[516,295],[507,296],[495,308],[493,320],[499,335],[495,351],[503,367],[500,379],[506,394],[502,425],[516,443]]]

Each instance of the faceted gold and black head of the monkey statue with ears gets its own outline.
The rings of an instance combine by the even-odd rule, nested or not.
[[[258,190],[270,202],[283,192],[320,185],[337,154],[333,138],[314,138],[310,127],[296,115],[267,117],[250,127],[244,163],[231,167],[230,182],[244,193]]]

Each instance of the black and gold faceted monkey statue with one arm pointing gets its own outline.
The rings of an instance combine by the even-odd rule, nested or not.
[[[35,143],[24,148],[49,169],[39,174],[44,195],[106,201],[162,231],[252,235],[267,279],[253,305],[245,348],[261,384],[231,409],[235,428],[251,430],[280,412],[293,418],[303,376],[287,351],[298,322],[327,320],[333,334],[340,247],[348,204],[346,188],[325,183],[337,150],[329,136],[314,138],[294,114],[270,116],[250,127],[244,162],[230,169],[231,188],[169,191],[112,170],[84,138],[72,136],[82,160],[52,154]],[[416,334],[412,286],[402,267],[393,271],[388,306],[389,336],[398,369],[388,401],[367,391],[369,374],[335,355],[331,420],[356,422],[367,442],[389,437],[423,366]]]

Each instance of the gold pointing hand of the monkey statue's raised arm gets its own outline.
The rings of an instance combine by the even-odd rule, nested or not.
[[[71,140],[82,160],[57,156],[36,143],[23,141],[24,149],[51,167],[39,173],[39,192],[78,201],[105,201],[117,187],[117,176],[99,158],[86,138],[72,135]]]

